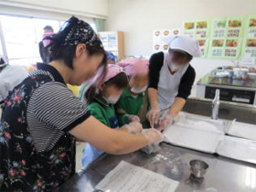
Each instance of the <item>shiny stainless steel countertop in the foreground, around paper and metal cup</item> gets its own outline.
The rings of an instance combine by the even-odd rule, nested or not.
[[[167,160],[159,157],[165,156]],[[164,158],[166,159],[166,158]],[[137,151],[131,154],[103,154],[86,170],[76,173],[58,191],[93,191],[108,172],[125,160],[179,182],[176,191],[250,192],[256,191],[256,165],[204,154],[162,143],[157,154]],[[204,160],[209,165],[204,179],[190,176],[190,160]]]

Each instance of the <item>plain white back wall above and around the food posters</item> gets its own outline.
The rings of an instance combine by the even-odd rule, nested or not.
[[[154,29],[181,27],[183,20],[256,14],[256,0],[108,0],[107,31],[125,32],[125,55],[149,56]],[[194,59],[196,81],[229,60]]]

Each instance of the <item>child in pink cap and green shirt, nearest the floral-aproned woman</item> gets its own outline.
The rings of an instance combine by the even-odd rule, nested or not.
[[[108,73],[104,78],[104,83],[97,88],[91,87],[85,96],[92,100],[88,101],[90,113],[104,125],[113,129],[119,128],[119,120],[115,113],[114,104],[119,100],[124,88],[128,84],[128,79],[123,70],[113,64],[108,64]],[[93,127],[92,127],[93,129]],[[139,133],[143,127],[138,122],[132,122],[124,125],[119,130],[130,133]],[[94,146],[87,144],[84,148],[82,165],[88,166],[91,161],[95,160],[103,152]]]

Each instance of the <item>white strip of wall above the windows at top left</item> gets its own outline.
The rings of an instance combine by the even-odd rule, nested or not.
[[[0,7],[4,5],[84,17],[108,16],[108,0],[0,0]]]

